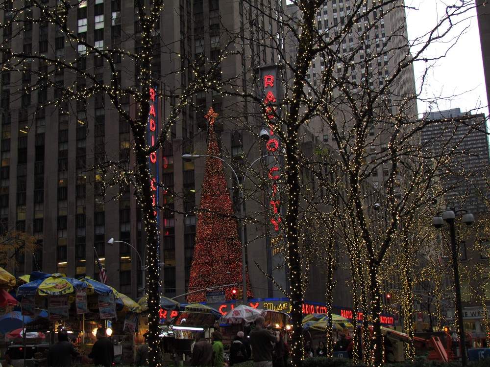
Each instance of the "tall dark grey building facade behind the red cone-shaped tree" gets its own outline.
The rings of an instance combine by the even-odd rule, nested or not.
[[[282,1],[265,2],[279,13],[285,6]],[[52,0],[41,3],[52,9],[57,6]],[[13,6],[18,5],[13,3]],[[38,11],[32,10],[34,19],[39,17]],[[0,14],[7,22],[12,16],[9,9]],[[135,54],[141,51],[137,42],[141,29],[131,1],[81,1],[77,8],[67,10],[66,16],[67,27],[100,50],[122,47]],[[260,28],[269,26],[276,27],[257,9],[244,9],[242,1],[166,1],[153,32],[152,73],[159,94],[176,95],[191,83],[193,70],[186,69],[185,64],[189,60],[197,60],[199,55],[217,60],[226,42],[223,29],[245,28],[251,46],[246,61],[240,55],[232,55],[221,62],[222,80],[240,75],[244,68],[279,63],[277,53],[270,52],[260,39],[263,36]],[[111,83],[107,61],[94,53],[87,54],[86,47],[67,39],[55,24],[34,22],[24,27],[12,24],[3,29],[2,37],[3,44],[15,52],[39,53],[58,60],[78,58],[78,68],[104,84]],[[250,60],[256,65],[244,66]],[[114,61],[121,85],[137,85],[134,75],[138,66],[134,60],[116,56]],[[24,65],[33,72],[2,72],[0,215],[3,230],[32,234],[39,248],[32,255],[19,254],[18,265],[10,270],[16,275],[42,270],[98,279],[98,257],[106,268],[108,284],[136,298],[143,285],[141,274],[144,272],[138,255],[141,254],[144,261],[145,233],[133,188],[106,187],[103,173],[93,169],[107,160],[119,161],[126,168],[134,163],[129,125],[102,93],[83,102],[63,101],[67,88],[74,86],[75,90],[81,90],[90,86],[90,79],[53,68],[39,58],[25,60]],[[185,71],[175,72],[179,69]],[[23,87],[35,83],[36,71],[49,73],[52,84],[34,88],[30,93],[21,92]],[[53,103],[58,100],[61,102]],[[160,124],[165,122],[174,103],[172,97],[160,98]],[[158,177],[167,188],[160,200],[168,205],[168,210],[161,210],[159,215],[162,294],[165,296],[175,297],[188,290],[196,237],[194,209],[200,202],[205,159],[185,161],[182,155],[205,154],[204,114],[207,109],[212,106],[220,114],[216,130],[221,151],[233,166],[254,161],[264,153],[263,147],[259,148],[264,142],[258,141],[257,134],[237,130],[233,124],[229,111],[233,112],[236,103],[232,97],[225,98],[218,93],[197,93],[193,103],[181,112],[159,152]],[[130,98],[123,99],[122,104],[130,115],[135,115]],[[260,124],[257,128],[261,128]],[[309,139],[313,145],[319,143],[311,134]],[[226,167],[225,175],[238,210],[236,183]],[[259,212],[264,212],[262,204],[254,204],[254,200],[246,203],[245,214],[253,216]],[[250,281],[255,297],[282,297],[255,266],[257,262],[268,273],[274,272],[279,283],[287,288],[287,266],[281,253],[273,250],[282,240],[270,234],[265,218],[266,225],[253,223],[246,227]],[[110,238],[114,238],[112,245],[107,243]],[[137,251],[118,241],[131,244]],[[317,279],[323,276],[321,272],[319,268],[312,270]],[[324,294],[323,282],[316,283],[309,293],[316,301],[323,300]],[[184,298],[179,300],[184,301]],[[346,305],[344,301],[341,304]]]

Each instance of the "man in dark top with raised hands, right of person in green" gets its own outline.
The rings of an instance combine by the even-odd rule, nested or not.
[[[279,342],[279,332],[275,335],[264,328],[264,318],[255,320],[255,328],[250,331],[250,346],[255,367],[272,367],[272,346]]]

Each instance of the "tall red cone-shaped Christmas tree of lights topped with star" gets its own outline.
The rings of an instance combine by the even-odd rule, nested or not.
[[[217,116],[218,114],[212,108],[206,115],[209,120],[207,154],[219,157],[220,149],[214,129],[214,121]],[[224,289],[226,299],[231,299],[232,290],[242,288],[241,246],[230,192],[224,177],[223,162],[207,157],[200,211],[197,216],[196,245],[191,265],[189,292],[225,284],[240,284]],[[253,293],[248,273],[246,278],[247,297],[251,298]],[[214,291],[218,290],[214,289]],[[206,291],[187,296],[188,302],[205,300]]]

